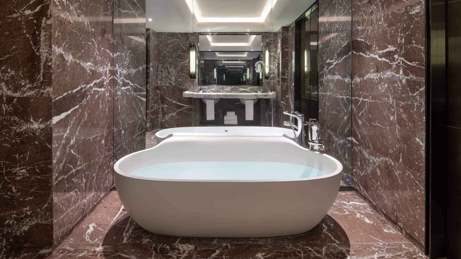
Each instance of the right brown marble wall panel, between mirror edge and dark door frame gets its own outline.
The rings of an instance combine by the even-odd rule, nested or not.
[[[354,187],[424,244],[425,2],[352,0]]]

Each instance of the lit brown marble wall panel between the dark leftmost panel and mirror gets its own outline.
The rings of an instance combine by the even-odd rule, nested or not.
[[[54,0],[53,236],[112,188],[112,0]]]

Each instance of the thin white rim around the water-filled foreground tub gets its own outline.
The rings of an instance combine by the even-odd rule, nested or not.
[[[203,137],[211,137],[211,136],[171,136],[166,140],[170,139],[170,138],[174,138],[175,140],[177,138],[190,138],[190,137],[195,137],[195,138],[203,138]],[[251,137],[251,138],[257,138],[258,136],[213,136],[213,137],[236,137],[236,138],[248,138],[248,137]],[[280,136],[262,136],[262,137],[270,137],[270,138],[283,138],[284,140],[290,142],[291,144],[293,145],[296,145],[297,148],[301,149],[303,152],[304,151],[308,151],[308,152],[313,152],[313,153],[316,153],[318,155],[324,155],[327,159],[330,159],[331,161],[333,161],[337,168],[335,171],[333,171],[332,173],[327,173],[325,175],[321,175],[321,176],[315,176],[315,177],[309,177],[309,178],[296,178],[296,179],[264,179],[264,180],[258,180],[258,179],[255,179],[255,180],[216,180],[216,179],[166,179],[166,178],[151,178],[151,177],[142,177],[142,176],[135,176],[135,175],[130,175],[129,173],[124,173],[122,172],[122,170],[120,170],[119,168],[119,164],[121,162],[123,162],[125,160],[125,158],[128,158],[132,155],[136,155],[138,153],[141,153],[141,152],[145,152],[147,150],[153,150],[155,149],[156,147],[160,146],[161,144],[165,144],[165,143],[168,143],[168,141],[162,141],[161,143],[155,145],[154,147],[152,148],[149,148],[149,149],[145,149],[145,150],[139,150],[139,151],[136,151],[136,152],[133,152],[131,154],[128,154],[128,155],[125,155],[124,157],[120,158],[117,162],[115,162],[114,166],[113,166],[113,169],[114,169],[114,173],[118,173],[119,175],[121,176],[124,176],[124,177],[129,177],[129,178],[135,178],[135,179],[140,179],[140,180],[151,180],[151,181],[165,181],[165,182],[207,182],[207,183],[213,183],[213,182],[234,182],[234,183],[257,183],[257,182],[296,182],[296,181],[307,181],[307,180],[317,180],[317,179],[322,179],[322,178],[330,178],[330,177],[333,177],[337,174],[340,174],[342,173],[343,171],[343,165],[341,164],[341,162],[339,162],[336,158],[330,156],[330,155],[326,155],[326,154],[322,154],[318,151],[312,151],[312,150],[308,150],[306,148],[303,148],[301,147],[300,145],[296,144],[295,142],[293,142],[292,140],[288,139],[288,138],[285,138],[285,137],[280,137]],[[166,164],[166,163],[165,163]]]

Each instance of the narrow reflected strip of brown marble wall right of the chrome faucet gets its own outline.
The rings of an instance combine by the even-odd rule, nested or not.
[[[352,185],[351,1],[319,1],[319,138]]]

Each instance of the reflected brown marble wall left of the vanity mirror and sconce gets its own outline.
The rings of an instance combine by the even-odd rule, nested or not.
[[[183,98],[183,92],[198,89],[198,76],[189,79],[189,48],[198,45],[198,34],[151,31],[150,35],[150,54],[155,57],[150,59],[150,130],[192,127],[192,99]]]

